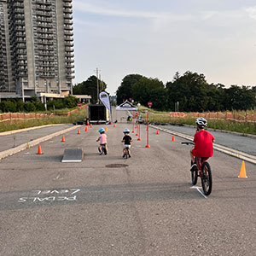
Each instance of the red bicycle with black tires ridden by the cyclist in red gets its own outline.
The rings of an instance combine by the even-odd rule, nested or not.
[[[182,143],[182,144],[192,144],[194,143]],[[211,166],[207,162],[208,158],[204,157],[195,157],[195,163],[197,166],[197,170],[191,171],[191,179],[192,184],[195,185],[197,183],[197,177],[201,177],[201,186],[204,191],[205,195],[210,195],[212,192],[212,172],[211,172]],[[193,165],[193,162],[191,161],[191,166]]]

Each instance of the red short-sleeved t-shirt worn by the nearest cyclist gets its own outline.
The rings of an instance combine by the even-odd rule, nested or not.
[[[193,154],[196,157],[212,157],[214,137],[209,131],[201,130],[195,133],[194,141],[195,147]]]

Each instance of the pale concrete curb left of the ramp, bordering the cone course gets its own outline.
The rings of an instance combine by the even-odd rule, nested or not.
[[[6,158],[6,157],[8,157],[8,156],[10,156],[12,154],[16,154],[16,153],[18,153],[18,152],[20,152],[22,150],[27,149],[27,148],[31,148],[31,147],[33,147],[35,145],[38,145],[39,143],[43,143],[43,142],[45,142],[45,141],[47,141],[47,140],[49,140],[49,139],[51,139],[53,137],[57,137],[57,136],[59,136],[61,134],[64,134],[64,133],[66,133],[68,131],[73,131],[73,130],[77,129],[79,126],[83,126],[83,125],[74,125],[73,127],[67,128],[66,130],[57,131],[57,132],[52,133],[50,135],[47,135],[47,136],[35,139],[35,140],[33,140],[33,141],[29,142],[29,143],[23,143],[20,146],[17,146],[15,148],[10,148],[10,149],[4,150],[4,151],[0,152],[0,160],[2,160],[3,158]],[[40,127],[42,127],[42,126],[40,126]]]

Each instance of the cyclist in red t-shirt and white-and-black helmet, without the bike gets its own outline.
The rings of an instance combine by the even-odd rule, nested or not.
[[[197,166],[195,163],[195,157],[209,158],[213,155],[213,141],[214,137],[209,131],[205,131],[207,126],[207,119],[198,118],[195,120],[197,125],[196,133],[194,136],[193,143],[195,147],[190,150],[190,157],[193,165],[191,166],[191,171],[194,171]]]

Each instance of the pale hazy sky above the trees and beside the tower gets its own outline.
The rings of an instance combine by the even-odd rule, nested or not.
[[[255,0],[73,0],[75,79],[98,68],[114,95],[128,74],[256,85]]]

